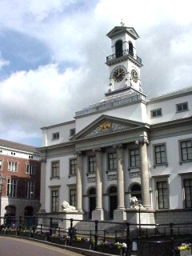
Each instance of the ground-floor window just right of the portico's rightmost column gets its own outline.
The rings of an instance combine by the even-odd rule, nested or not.
[[[157,182],[158,209],[168,209],[168,188],[167,182]]]

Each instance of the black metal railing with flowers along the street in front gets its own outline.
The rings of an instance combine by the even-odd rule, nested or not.
[[[33,219],[31,226],[25,226],[26,218]],[[79,221],[73,218],[49,218],[41,217],[38,224],[38,217],[22,217],[18,219],[11,217],[1,218],[0,234],[17,235],[20,237],[44,239],[46,242],[54,242],[63,246],[79,246],[82,248],[82,241],[86,242],[86,249],[104,250],[110,244],[118,246],[126,244],[123,255],[130,255],[135,250],[136,255],[173,256],[174,246],[183,242],[192,242],[192,222],[168,223],[168,224],[133,224],[130,222],[104,222],[104,221]],[[8,221],[9,220],[9,221]],[[68,222],[68,228],[57,226],[57,222]],[[74,223],[90,222],[91,229],[79,229]],[[107,226],[107,228],[103,228]],[[118,228],[117,228],[118,226]],[[119,229],[121,227],[121,229]],[[78,245],[77,245],[78,242]],[[101,246],[102,244],[102,246]],[[135,248],[136,245],[136,248]],[[114,247],[115,247],[114,246]],[[134,247],[134,248],[133,248]],[[116,247],[115,247],[116,248]],[[113,254],[113,252],[110,252]]]

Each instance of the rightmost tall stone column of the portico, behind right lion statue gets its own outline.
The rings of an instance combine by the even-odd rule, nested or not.
[[[140,150],[140,169],[141,169],[141,185],[142,185],[142,205],[146,208],[150,208],[150,184],[149,184],[149,171],[147,161],[147,149],[146,143],[148,141],[144,139],[139,143]]]

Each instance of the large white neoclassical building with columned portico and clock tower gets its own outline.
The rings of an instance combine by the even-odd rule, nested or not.
[[[61,203],[86,219],[133,221],[141,202],[146,222],[191,218],[192,87],[155,98],[142,92],[138,34],[116,26],[107,36],[110,90],[74,120],[42,128],[41,210]]]

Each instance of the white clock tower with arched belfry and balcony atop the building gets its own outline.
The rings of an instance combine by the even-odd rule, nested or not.
[[[123,25],[123,23],[122,23]],[[111,39],[112,54],[106,57],[110,68],[110,90],[132,87],[141,90],[142,59],[136,54],[135,41],[139,38],[133,27],[115,26],[106,34]]]

